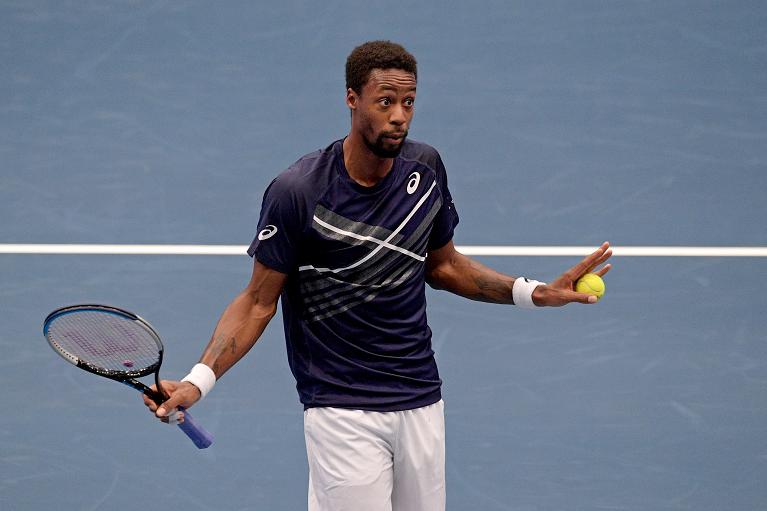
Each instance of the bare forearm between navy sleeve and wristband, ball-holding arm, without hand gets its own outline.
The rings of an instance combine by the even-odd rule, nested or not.
[[[490,303],[513,303],[511,288],[514,277],[454,252],[449,261],[427,272],[427,282],[435,289]]]

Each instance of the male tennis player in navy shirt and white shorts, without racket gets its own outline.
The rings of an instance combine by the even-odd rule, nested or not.
[[[255,344],[282,297],[304,404],[312,511],[445,508],[441,380],[425,284],[520,306],[594,303],[574,282],[603,244],[549,285],[497,273],[453,245],[458,215],[432,147],[407,140],[416,61],[388,41],[346,63],[351,129],[304,156],[264,194],[250,283],[224,311],[200,363],[165,382],[158,417],[189,408]],[[174,415],[180,415],[175,413]]]

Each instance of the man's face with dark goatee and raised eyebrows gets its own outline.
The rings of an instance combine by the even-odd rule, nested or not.
[[[379,158],[394,158],[405,143],[415,108],[416,80],[401,69],[374,69],[362,94],[349,89],[352,130]]]

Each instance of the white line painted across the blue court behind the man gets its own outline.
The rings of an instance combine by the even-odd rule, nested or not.
[[[244,255],[247,245],[99,245],[0,243],[0,254],[75,255]],[[584,256],[596,246],[459,245],[472,256]],[[767,247],[612,247],[615,256],[630,257],[767,257]]]

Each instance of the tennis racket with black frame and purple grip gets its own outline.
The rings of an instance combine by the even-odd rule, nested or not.
[[[51,312],[43,324],[51,348],[80,369],[124,383],[160,404],[163,346],[160,336],[135,314],[107,305],[71,305]],[[157,392],[136,378],[154,373]],[[188,412],[178,427],[200,449],[213,436],[195,424]]]

